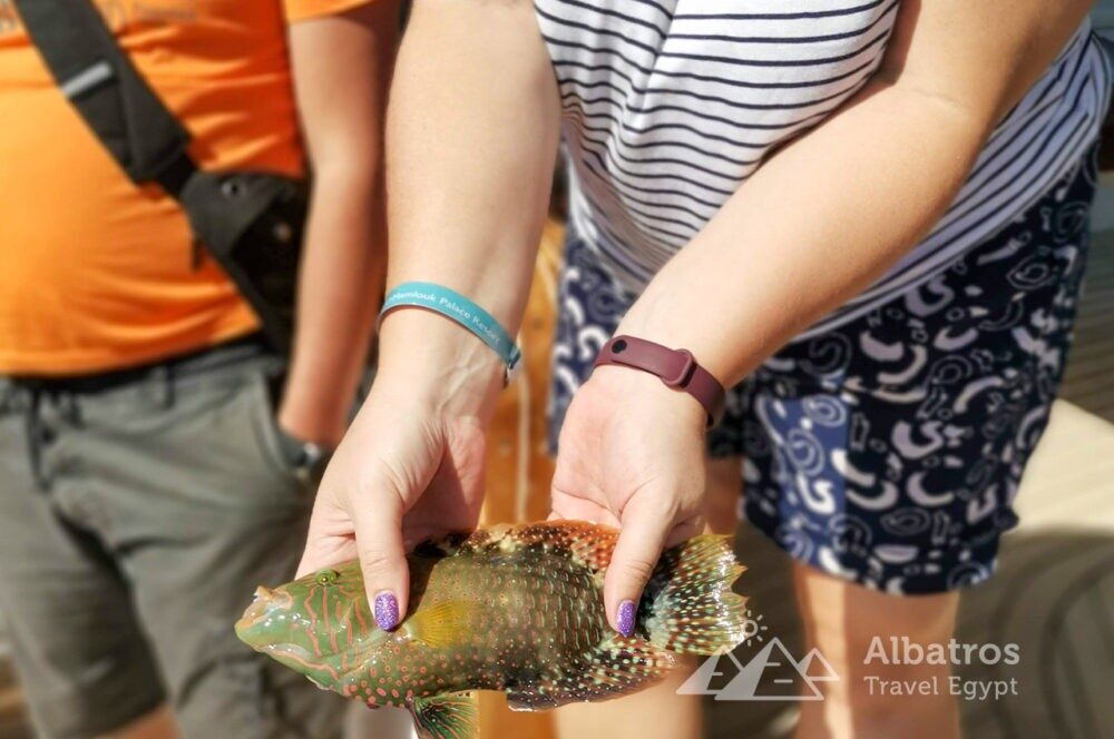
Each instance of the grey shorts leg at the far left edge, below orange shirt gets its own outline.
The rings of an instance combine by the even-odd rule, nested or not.
[[[0,380],[0,609],[23,699],[47,739],[170,739],[146,720],[164,691],[125,580],[55,484],[71,442],[58,411]]]

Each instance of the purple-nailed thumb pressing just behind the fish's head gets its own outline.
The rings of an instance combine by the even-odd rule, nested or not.
[[[410,601],[410,569],[402,542],[402,501],[383,496],[388,505],[356,506],[352,511],[360,569],[375,624],[392,631],[405,617]]]

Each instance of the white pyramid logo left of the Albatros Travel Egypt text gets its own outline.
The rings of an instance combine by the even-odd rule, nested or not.
[[[731,667],[733,666],[733,667]],[[725,684],[722,678],[734,674]],[[780,639],[771,639],[749,662],[731,652],[704,660],[677,689],[684,696],[715,696],[715,700],[823,700],[820,682],[839,680],[839,674],[819,650],[798,661]]]

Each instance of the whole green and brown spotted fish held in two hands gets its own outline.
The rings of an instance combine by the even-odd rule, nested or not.
[[[410,710],[423,739],[477,736],[475,691],[514,710],[625,696],[652,686],[676,654],[742,642],[744,568],[730,539],[695,536],[659,558],[631,637],[604,609],[618,532],[583,521],[500,525],[419,544],[410,600],[393,631],[375,625],[356,561],[260,588],[236,634],[313,681],[367,703]]]

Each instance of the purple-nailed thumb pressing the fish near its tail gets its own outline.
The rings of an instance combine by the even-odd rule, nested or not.
[[[642,503],[636,496],[623,511],[623,528],[604,578],[604,604],[612,628],[624,637],[634,633],[642,591],[672,528],[667,506]]]

